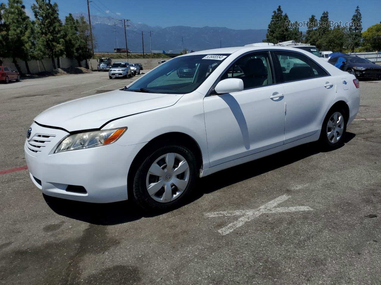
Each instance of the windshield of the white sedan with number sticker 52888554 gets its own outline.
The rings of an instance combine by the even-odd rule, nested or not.
[[[200,54],[175,57],[159,65],[128,90],[185,94],[197,89],[229,54]]]

